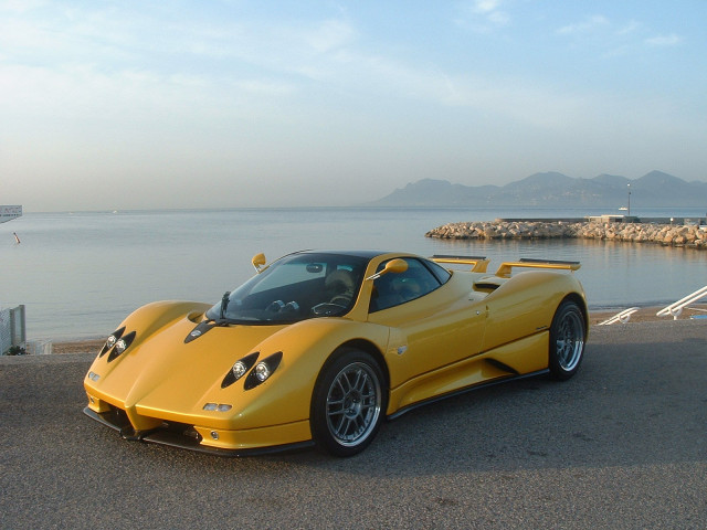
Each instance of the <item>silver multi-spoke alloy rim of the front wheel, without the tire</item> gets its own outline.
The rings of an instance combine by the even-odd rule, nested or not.
[[[380,381],[363,362],[347,364],[334,378],[326,401],[327,426],[345,447],[368,438],[378,424],[382,403]]]

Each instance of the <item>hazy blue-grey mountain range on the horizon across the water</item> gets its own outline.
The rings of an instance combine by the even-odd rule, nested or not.
[[[535,173],[506,186],[463,186],[423,179],[379,199],[377,206],[603,206],[705,208],[707,182],[686,182],[662,171],[630,180],[614,174],[576,179],[555,171]]]

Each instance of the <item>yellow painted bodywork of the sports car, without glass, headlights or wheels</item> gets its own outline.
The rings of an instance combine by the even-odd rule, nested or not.
[[[376,275],[384,261],[410,256],[378,256],[365,277]],[[262,266],[260,256],[255,262]],[[386,274],[407,268],[391,263]],[[118,326],[126,328],[125,335],[136,332],[131,346],[110,362],[109,354],[93,362],[89,370],[98,378],[84,380],[88,407],[97,413],[109,405],[123,409],[136,431],[179,422],[194,426],[202,445],[267,447],[309,439],[317,377],[344,344],[356,343],[384,362],[388,414],[469,385],[547,368],[552,316],[568,294],[583,303],[580,284],[570,274],[548,271],[555,266],[506,278],[515,263],[503,264],[504,274],[496,275],[485,272],[487,261],[479,263],[474,261],[476,272],[454,272],[425,296],[370,315],[372,279],[363,282],[345,317],[214,327],[189,343],[184,338],[210,305],[147,305]],[[282,362],[263,384],[245,390],[243,378],[221,388],[239,359],[257,352],[260,361],[278,351]],[[231,407],[205,411],[207,403]]]

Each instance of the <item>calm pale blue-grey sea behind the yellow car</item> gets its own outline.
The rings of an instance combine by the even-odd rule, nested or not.
[[[251,257],[302,248],[398,250],[582,262],[592,308],[675,301],[707,283],[707,252],[591,241],[447,242],[424,236],[457,221],[581,218],[542,209],[239,209],[27,213],[0,224],[0,305],[27,306],[29,339],[103,337],[138,306],[217,301],[253,274]],[[696,210],[634,211],[644,216]],[[17,232],[21,244],[15,244]]]

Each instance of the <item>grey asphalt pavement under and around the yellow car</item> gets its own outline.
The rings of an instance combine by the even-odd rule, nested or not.
[[[707,528],[707,322],[592,332],[571,381],[420,409],[350,459],[128,443],[81,412],[93,356],[0,359],[0,528]]]

